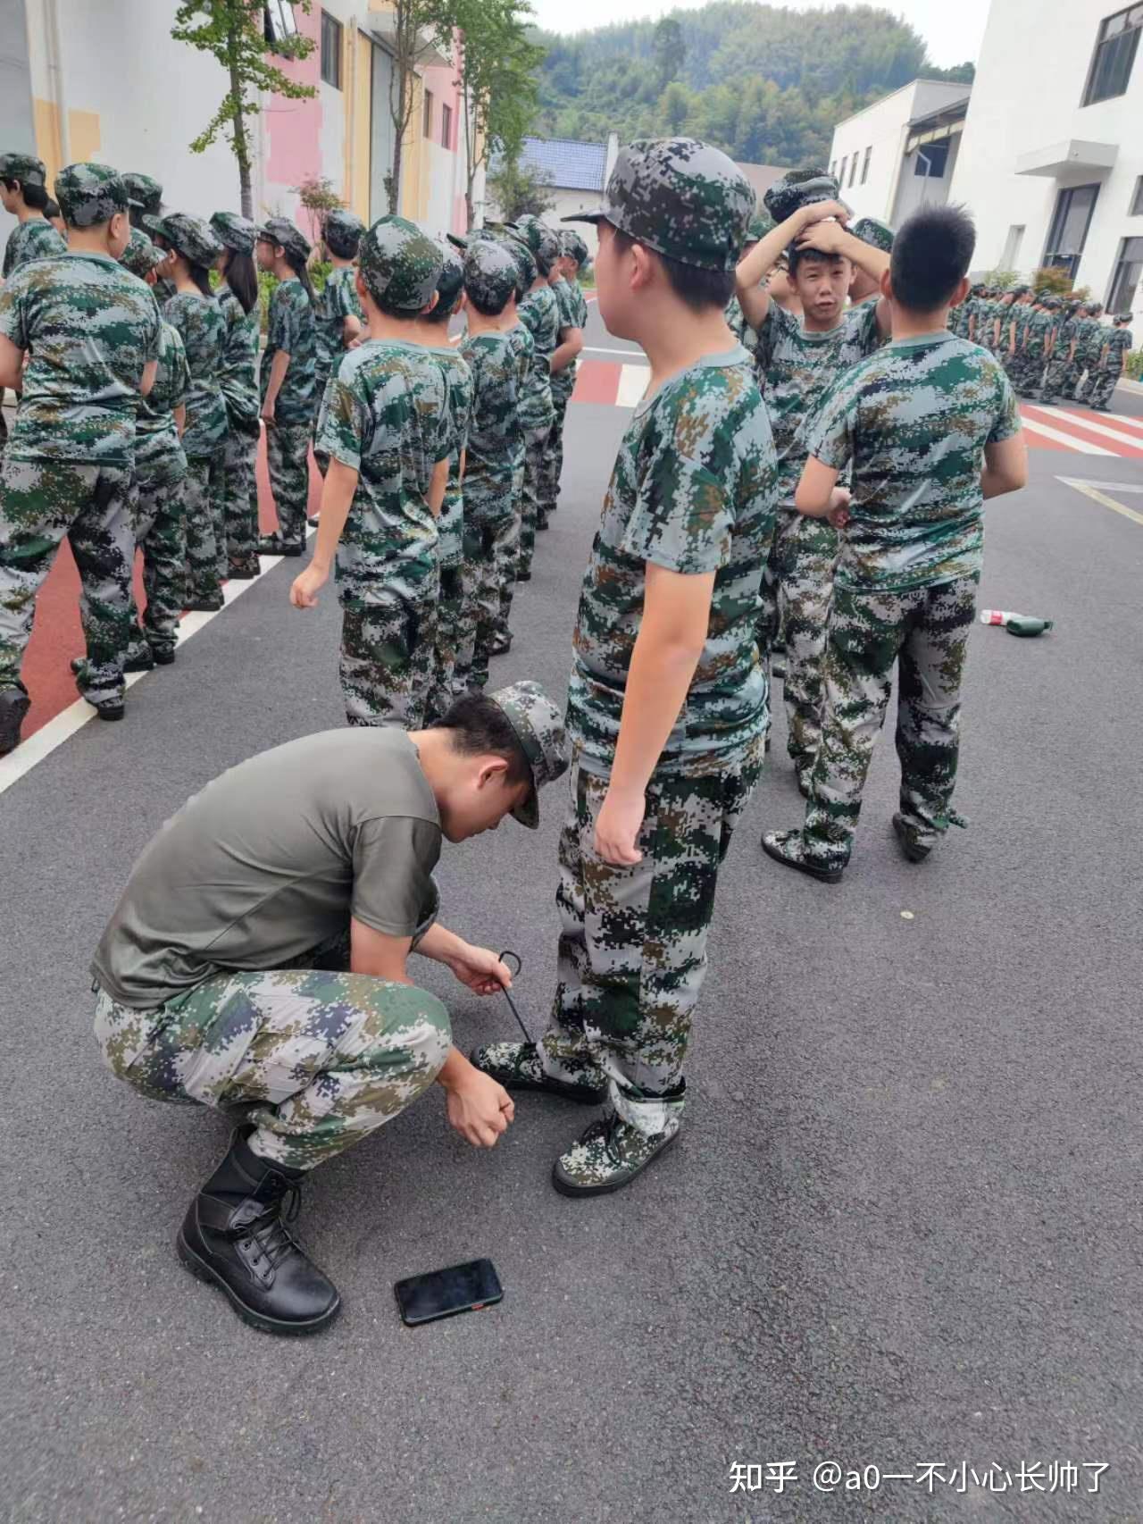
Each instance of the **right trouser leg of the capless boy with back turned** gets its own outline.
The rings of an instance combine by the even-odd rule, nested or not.
[[[960,689],[978,584],[978,576],[969,576],[924,588],[901,646],[901,815],[920,846],[933,846],[949,826],[960,751]]]

